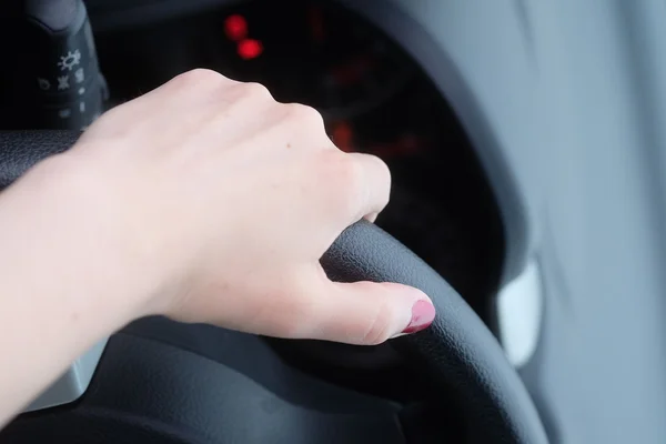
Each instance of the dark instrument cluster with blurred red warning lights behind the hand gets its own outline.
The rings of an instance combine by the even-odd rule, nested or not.
[[[495,199],[446,99],[390,36],[340,2],[317,0],[236,1],[102,29],[101,69],[117,102],[205,67],[317,109],[341,150],[390,165],[391,203],[377,223],[488,317],[504,254]]]

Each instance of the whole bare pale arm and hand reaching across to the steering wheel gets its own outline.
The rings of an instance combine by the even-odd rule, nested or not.
[[[0,427],[145,315],[351,344],[427,326],[421,291],[333,283],[319,263],[390,185],[313,109],[212,71],[109,111],[0,194]]]

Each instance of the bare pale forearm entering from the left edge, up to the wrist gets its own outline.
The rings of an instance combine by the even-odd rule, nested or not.
[[[87,224],[89,206],[64,204],[77,193],[60,171],[38,169],[0,194],[0,426],[141,310],[142,289],[109,261],[117,249]]]

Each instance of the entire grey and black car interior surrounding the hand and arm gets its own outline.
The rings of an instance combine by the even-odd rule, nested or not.
[[[389,206],[326,273],[415,285],[437,317],[376,346],[142,319],[0,443],[665,443],[664,18],[660,0],[6,0],[0,189],[182,72],[259,82],[391,169]]]

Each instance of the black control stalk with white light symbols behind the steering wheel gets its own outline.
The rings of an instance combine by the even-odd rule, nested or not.
[[[107,87],[83,1],[9,0],[0,18],[0,129],[92,123]]]

